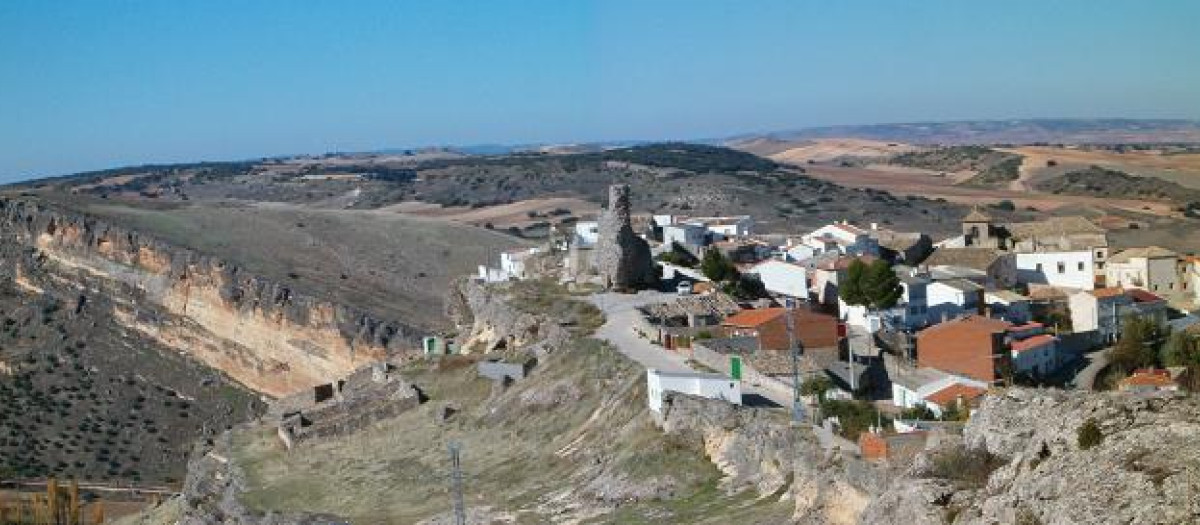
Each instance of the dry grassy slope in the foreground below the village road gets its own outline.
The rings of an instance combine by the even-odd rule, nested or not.
[[[642,370],[599,342],[551,356],[503,392],[470,368],[416,369],[412,379],[430,403],[346,439],[284,452],[270,428],[235,435],[234,458],[250,482],[244,502],[413,523],[449,509],[450,440],[463,443],[468,506],[533,523],[562,518],[550,499],[577,497],[605,470],[635,481],[670,473],[688,494],[718,476],[698,451],[668,442],[649,423]],[[462,411],[440,422],[446,402]]]

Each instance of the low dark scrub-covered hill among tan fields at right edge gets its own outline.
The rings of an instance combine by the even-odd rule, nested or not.
[[[1139,177],[1124,171],[1093,165],[1034,183],[1037,189],[1068,195],[1141,198],[1175,203],[1200,203],[1200,191],[1184,188],[1156,177]]]

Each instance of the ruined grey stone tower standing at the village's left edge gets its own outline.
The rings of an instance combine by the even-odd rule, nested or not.
[[[629,185],[608,187],[608,209],[600,215],[596,270],[605,286],[636,290],[658,282],[650,246],[634,233],[630,222]]]

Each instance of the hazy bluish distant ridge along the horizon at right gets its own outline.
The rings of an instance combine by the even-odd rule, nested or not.
[[[1038,119],[828,126],[767,134],[781,140],[859,138],[910,144],[1200,143],[1200,121]]]

